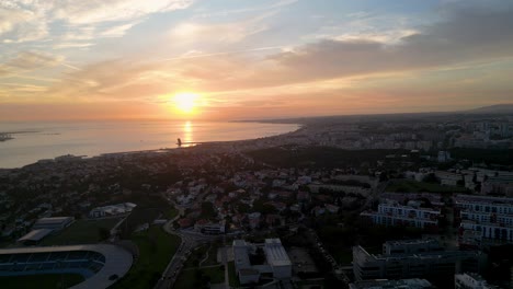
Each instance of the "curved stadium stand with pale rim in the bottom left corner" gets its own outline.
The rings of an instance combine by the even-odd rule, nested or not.
[[[73,289],[107,288],[132,263],[128,251],[109,244],[0,250],[0,276],[79,274],[86,280]]]

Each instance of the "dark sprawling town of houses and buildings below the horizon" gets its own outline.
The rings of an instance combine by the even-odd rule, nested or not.
[[[56,253],[20,253],[100,244],[130,261],[94,288],[513,284],[513,117],[276,122],[303,127],[0,170],[0,266],[48,270]],[[83,269],[102,273],[91,250]]]

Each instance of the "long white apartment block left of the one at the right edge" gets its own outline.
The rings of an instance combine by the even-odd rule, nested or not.
[[[375,224],[437,228],[441,210],[421,208],[418,205],[410,203],[409,206],[403,206],[398,201],[386,199],[378,205],[377,211],[367,210],[360,216],[371,219]]]

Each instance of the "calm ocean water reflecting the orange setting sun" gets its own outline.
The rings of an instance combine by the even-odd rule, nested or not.
[[[299,125],[203,122],[1,123],[0,169],[21,167],[64,154],[176,148],[182,142],[254,139],[294,131]]]

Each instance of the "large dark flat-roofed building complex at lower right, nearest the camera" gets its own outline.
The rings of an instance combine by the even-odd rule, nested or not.
[[[485,255],[471,251],[444,251],[433,240],[396,241],[384,244],[384,254],[353,247],[355,280],[426,278],[448,280],[455,273],[478,273]]]

